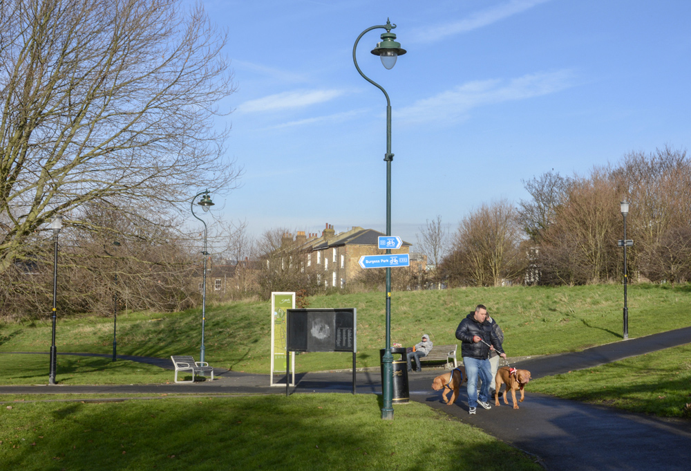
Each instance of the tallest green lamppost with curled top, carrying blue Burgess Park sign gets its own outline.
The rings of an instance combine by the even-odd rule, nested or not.
[[[386,25],[372,26],[364,30],[355,40],[355,44],[352,46],[352,62],[355,64],[355,68],[362,75],[363,79],[370,82],[370,84],[381,90],[386,97],[386,154],[384,154],[384,162],[386,162],[386,235],[391,235],[391,162],[393,160],[393,154],[391,154],[391,100],[388,98],[388,93],[384,90],[381,85],[377,84],[365,74],[362,73],[359,66],[357,65],[357,58],[355,57],[355,50],[357,49],[357,43],[360,38],[368,33],[368,31],[376,29],[384,29],[386,33],[381,33],[381,41],[377,43],[377,47],[372,49],[372,54],[378,55],[381,58],[381,64],[387,70],[390,70],[395,66],[396,59],[399,55],[404,55],[406,53],[405,49],[401,49],[401,44],[395,41],[396,35],[391,33],[391,30],[395,28],[395,24],[386,19]],[[386,250],[387,254],[391,253],[390,249]],[[381,418],[392,420],[393,419],[393,356],[391,355],[391,268],[386,268],[386,350],[384,351],[384,358],[381,359],[382,368],[384,369],[381,385],[381,393],[384,398],[384,405],[381,407]]]

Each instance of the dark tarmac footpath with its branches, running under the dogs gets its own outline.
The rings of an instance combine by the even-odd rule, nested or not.
[[[691,343],[691,327],[614,342],[578,353],[530,358],[512,366],[529,369],[533,378],[540,378],[687,343]],[[118,355],[118,358],[136,360],[124,355]],[[158,360],[159,366],[171,367],[165,360],[153,360]],[[268,375],[223,370],[217,373],[217,381],[183,385],[0,386],[0,394],[285,394],[285,386],[269,387]],[[502,400],[501,407],[493,405],[490,410],[478,407],[477,414],[470,416],[464,391],[455,404],[445,405],[441,394],[431,389],[432,380],[439,373],[439,370],[412,373],[409,380],[411,400],[442,410],[533,454],[547,470],[691,470],[689,421],[632,414],[553,398],[531,393],[530,387],[518,410],[512,409],[509,399],[509,406]],[[291,393],[350,392],[352,373],[299,373],[296,382],[298,385],[291,388]],[[379,371],[357,373],[358,394],[379,394],[380,391]],[[399,407],[406,405],[397,405],[395,409]]]

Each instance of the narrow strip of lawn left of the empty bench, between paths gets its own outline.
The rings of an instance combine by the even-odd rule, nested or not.
[[[1,385],[46,385],[50,355],[1,353]],[[55,382],[60,385],[138,385],[173,382],[173,371],[151,364],[111,358],[57,355]],[[191,375],[187,375],[191,379]],[[184,373],[180,373],[184,378]]]

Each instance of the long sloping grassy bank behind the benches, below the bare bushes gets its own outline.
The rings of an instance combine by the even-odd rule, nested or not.
[[[512,286],[392,293],[392,342],[412,345],[422,333],[435,344],[459,343],[455,329],[478,303],[486,304],[506,336],[509,356],[580,351],[621,340],[623,290],[618,285]],[[635,338],[691,325],[691,286],[633,284],[629,289],[629,335]],[[310,297],[312,308],[357,308],[357,366],[379,364],[384,347],[384,293]],[[206,358],[212,366],[269,372],[270,304],[236,302],[207,307]],[[118,315],[117,351],[198,360],[200,310]],[[113,321],[102,317],[59,318],[57,351],[109,353]],[[48,351],[50,319],[0,324],[0,351]],[[350,353],[296,355],[297,371],[349,368]],[[5,373],[0,371],[0,384]]]

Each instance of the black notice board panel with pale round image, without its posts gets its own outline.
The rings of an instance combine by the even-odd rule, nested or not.
[[[357,352],[355,308],[288,309],[289,351]]]

